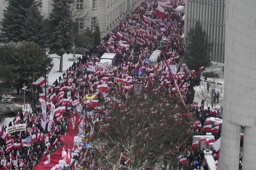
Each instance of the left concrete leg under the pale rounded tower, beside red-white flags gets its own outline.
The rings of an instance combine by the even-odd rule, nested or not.
[[[218,162],[218,170],[238,170],[240,151],[240,130],[240,125],[233,124],[223,119],[221,130],[221,150]]]

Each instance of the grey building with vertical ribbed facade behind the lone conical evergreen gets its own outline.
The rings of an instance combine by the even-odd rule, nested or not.
[[[226,0],[185,1],[184,36],[186,37],[189,30],[199,21],[212,46],[211,59],[218,63],[224,63],[225,6]]]

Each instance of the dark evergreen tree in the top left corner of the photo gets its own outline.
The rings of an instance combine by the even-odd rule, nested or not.
[[[6,7],[7,12],[1,21],[2,30],[9,41],[25,40],[21,36],[22,25],[25,22],[26,12],[35,4],[35,0],[9,0],[9,4]]]

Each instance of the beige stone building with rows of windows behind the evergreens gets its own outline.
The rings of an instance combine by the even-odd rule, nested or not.
[[[75,0],[73,19],[79,23],[80,29],[94,29],[97,23],[101,37],[111,31],[127,12],[136,9],[142,0]],[[52,0],[38,0],[39,10],[45,17],[52,11]],[[8,0],[0,0],[0,20],[6,12]]]

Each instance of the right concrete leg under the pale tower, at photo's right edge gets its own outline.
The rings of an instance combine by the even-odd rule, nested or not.
[[[243,170],[256,167],[256,127],[244,127]]]

